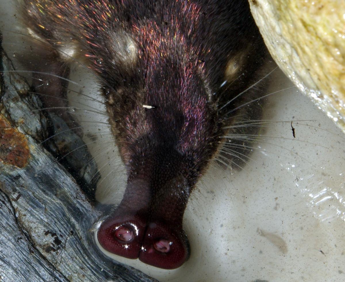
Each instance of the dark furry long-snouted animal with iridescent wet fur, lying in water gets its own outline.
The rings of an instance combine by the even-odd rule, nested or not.
[[[261,97],[262,84],[227,104],[264,76],[261,67],[268,59],[248,2],[23,2],[24,20],[52,46],[42,51],[42,57],[52,63],[40,71],[68,74],[68,60],[60,59],[55,48],[72,42],[78,50],[74,58],[100,77],[109,122],[128,175],[121,204],[99,230],[100,243],[114,253],[139,256],[157,267],[180,266],[189,255],[182,220],[191,191],[210,159],[218,157],[225,166],[241,165],[241,159],[219,152],[220,142],[227,141],[223,136],[243,130],[226,127],[261,117],[260,102],[240,106]],[[133,46],[135,51],[130,49]],[[234,58],[238,67],[226,75]],[[64,87],[56,79],[40,92],[62,97]],[[246,134],[256,130],[246,128]],[[250,141],[231,144],[236,142]],[[238,153],[247,155],[248,150],[241,148]],[[114,226],[128,230],[131,224],[139,226],[139,234],[124,251]],[[171,241],[170,252],[154,249],[152,236],[156,241]],[[140,251],[141,246],[145,251]]]

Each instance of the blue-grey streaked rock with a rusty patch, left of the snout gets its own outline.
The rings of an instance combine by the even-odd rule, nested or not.
[[[0,58],[0,281],[152,281],[95,247],[88,230],[101,211],[39,144],[40,101]]]

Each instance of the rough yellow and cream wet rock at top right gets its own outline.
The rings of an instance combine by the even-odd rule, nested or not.
[[[279,67],[345,131],[343,0],[249,0]]]

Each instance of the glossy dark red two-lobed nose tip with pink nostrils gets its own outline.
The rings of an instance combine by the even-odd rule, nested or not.
[[[97,232],[106,251],[138,259],[162,269],[175,269],[189,258],[189,243],[182,228],[163,223],[148,225],[138,215],[111,216]]]

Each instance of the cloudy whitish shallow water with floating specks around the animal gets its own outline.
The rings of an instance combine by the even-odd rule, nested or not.
[[[0,7],[4,4],[9,3],[1,0]],[[1,11],[6,11],[1,19],[15,19],[15,12]],[[16,25],[5,20],[0,28],[14,30]],[[94,91],[86,92],[97,90],[88,75],[72,67],[70,79],[83,87],[69,88],[100,99]],[[267,93],[293,86],[279,70],[269,79],[273,86]],[[90,118],[106,122],[106,117],[78,110],[99,109],[99,103],[69,94],[80,124],[88,130],[85,143],[96,134],[101,137],[98,145],[89,145],[101,172],[98,185],[116,187],[115,192],[97,192],[96,197],[118,203],[126,177],[109,127],[90,124]],[[213,165],[192,193],[184,217],[192,252],[183,266],[161,270],[137,260],[115,259],[160,281],[344,280],[344,134],[296,88],[271,95],[263,120],[267,122],[243,170]],[[103,142],[107,150],[100,155]]]

